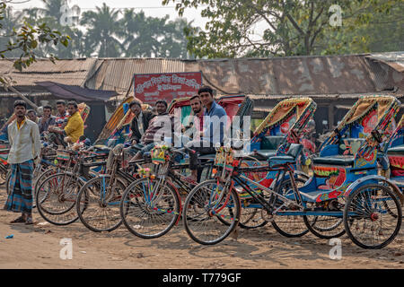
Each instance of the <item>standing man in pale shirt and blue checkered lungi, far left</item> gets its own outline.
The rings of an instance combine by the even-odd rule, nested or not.
[[[16,119],[7,127],[10,141],[8,163],[11,164],[12,176],[10,195],[4,209],[22,213],[11,223],[32,224],[32,172],[34,161],[40,163],[40,128],[25,117],[27,104],[23,100],[14,102]]]

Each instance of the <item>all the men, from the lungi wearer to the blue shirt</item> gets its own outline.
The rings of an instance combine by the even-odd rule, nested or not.
[[[11,192],[4,209],[22,213],[11,223],[32,224],[32,173],[35,164],[40,163],[40,141],[53,143],[58,147],[78,143],[85,138],[84,124],[75,101],[66,104],[64,100],[57,100],[55,116],[52,115],[51,106],[43,107],[41,117],[38,117],[35,110],[27,110],[27,104],[23,100],[16,100],[13,106],[13,120],[1,131],[11,146],[8,162],[12,171]],[[223,143],[226,112],[215,103],[214,91],[209,86],[201,87],[198,93],[190,98],[190,107],[193,119],[188,126],[181,126],[180,135],[175,135],[175,116],[168,114],[168,104],[165,100],[155,103],[155,112],[143,110],[140,100],[130,102],[129,109],[135,115],[130,125],[128,147],[132,155],[131,161],[142,159],[145,152],[150,152],[157,143],[166,142],[167,138],[171,138],[172,143],[174,136],[187,137],[184,142],[181,139],[181,143],[184,143],[189,151],[191,174],[186,180],[196,184],[198,155],[214,153],[215,144]],[[211,120],[215,117],[219,118],[219,124]],[[170,125],[165,126],[167,122]],[[162,133],[163,127],[169,129],[169,135]]]

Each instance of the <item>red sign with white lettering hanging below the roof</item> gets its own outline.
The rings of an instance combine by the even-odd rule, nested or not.
[[[171,100],[190,97],[202,85],[202,72],[135,74],[135,98],[147,104],[157,100]]]

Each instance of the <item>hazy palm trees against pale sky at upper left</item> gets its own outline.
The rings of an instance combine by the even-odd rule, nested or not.
[[[23,17],[32,26],[46,23],[70,36],[67,47],[41,45],[37,51],[38,57],[49,54],[60,58],[188,57],[184,29],[188,29],[191,22],[186,19],[169,21],[168,15],[162,18],[148,17],[143,11],[136,13],[134,9],[112,9],[103,3],[93,11],[82,13],[80,21],[66,25],[60,19],[68,5],[67,0],[42,2],[43,8],[11,12],[7,17],[10,21]]]

